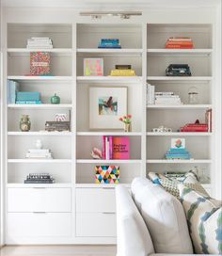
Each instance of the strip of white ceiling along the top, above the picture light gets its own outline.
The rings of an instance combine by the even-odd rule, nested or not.
[[[164,8],[164,7],[212,7],[221,0],[2,0],[6,7],[27,8]]]

